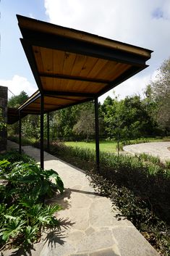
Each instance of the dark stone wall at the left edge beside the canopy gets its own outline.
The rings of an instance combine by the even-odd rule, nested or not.
[[[8,101],[8,88],[0,86],[0,110],[4,122],[7,123],[7,101]],[[7,128],[0,131],[0,152],[7,149]]]

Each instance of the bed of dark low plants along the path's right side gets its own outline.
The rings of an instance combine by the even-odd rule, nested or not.
[[[170,254],[170,168],[158,157],[147,154],[129,156],[101,152],[100,173],[95,173],[95,152],[51,144],[51,153],[83,170],[92,186],[110,197],[122,215],[157,249]]]

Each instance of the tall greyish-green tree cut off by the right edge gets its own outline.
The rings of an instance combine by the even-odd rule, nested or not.
[[[150,88],[158,104],[158,123],[167,135],[170,131],[170,57],[159,67],[156,80],[150,82]]]

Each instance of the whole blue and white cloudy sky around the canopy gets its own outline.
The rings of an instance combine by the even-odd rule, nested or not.
[[[14,95],[25,91],[30,96],[38,89],[20,43],[17,14],[154,51],[149,67],[101,96],[100,102],[114,94],[119,99],[143,96],[170,57],[170,0],[1,0],[0,12],[0,86],[8,86]]]

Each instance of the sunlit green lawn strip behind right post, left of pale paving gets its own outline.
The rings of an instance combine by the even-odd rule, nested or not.
[[[95,150],[95,141],[83,142],[83,141],[67,141],[64,142],[67,146],[78,146],[81,148],[89,148]],[[100,150],[104,152],[116,152],[116,142],[114,141],[100,141]]]

